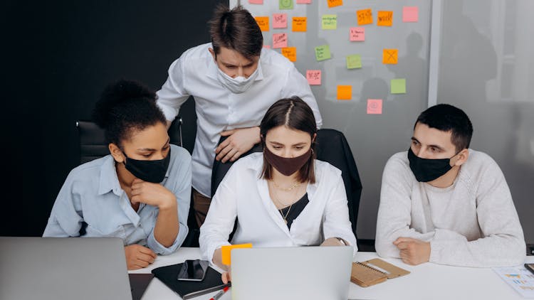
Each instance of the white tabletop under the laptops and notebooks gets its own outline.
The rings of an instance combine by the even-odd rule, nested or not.
[[[199,257],[199,248],[182,247],[172,255],[158,256],[149,267],[130,271],[130,273],[150,273],[152,269],[157,267],[178,264],[184,262],[185,259],[197,259]],[[355,261],[362,262],[375,257],[377,257],[375,252],[358,252]],[[366,288],[351,283],[350,299],[523,299],[491,268],[449,267],[429,262],[414,267],[404,264],[400,259],[385,258],[384,260],[407,269],[411,273],[404,277],[387,279],[386,282]],[[534,262],[534,257],[527,257],[527,262]],[[209,300],[214,294],[216,292],[199,296],[195,300]],[[155,278],[150,282],[142,298],[142,300],[152,299],[176,300],[180,297]],[[230,299],[230,291],[220,298],[220,300]]]

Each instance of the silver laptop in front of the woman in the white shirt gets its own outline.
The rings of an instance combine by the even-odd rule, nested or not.
[[[244,248],[231,252],[233,300],[347,300],[352,247]]]

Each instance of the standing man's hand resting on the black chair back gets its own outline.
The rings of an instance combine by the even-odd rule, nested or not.
[[[260,142],[260,127],[226,130],[221,132],[221,136],[228,138],[215,149],[215,159],[223,163],[236,161],[239,156]]]

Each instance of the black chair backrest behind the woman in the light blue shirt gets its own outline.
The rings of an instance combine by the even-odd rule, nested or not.
[[[177,117],[169,127],[171,144],[182,146],[182,123],[182,118]],[[110,154],[105,141],[104,129],[88,120],[78,120],[76,128],[80,143],[80,164]]]

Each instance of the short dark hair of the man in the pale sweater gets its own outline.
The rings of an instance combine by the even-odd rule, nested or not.
[[[467,114],[458,107],[448,104],[434,105],[419,114],[414,129],[417,123],[426,124],[441,132],[451,132],[451,142],[456,146],[456,152],[469,148],[473,124]]]

